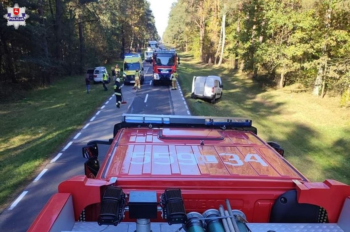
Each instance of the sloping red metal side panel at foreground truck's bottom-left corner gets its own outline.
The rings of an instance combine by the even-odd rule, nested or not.
[[[52,195],[27,232],[50,231],[70,195],[70,193]]]

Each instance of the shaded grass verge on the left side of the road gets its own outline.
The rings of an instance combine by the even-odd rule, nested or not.
[[[111,66],[105,65],[107,71]],[[86,94],[85,75],[64,77],[0,104],[0,212],[110,97],[112,85],[104,92],[102,84],[91,82]]]

